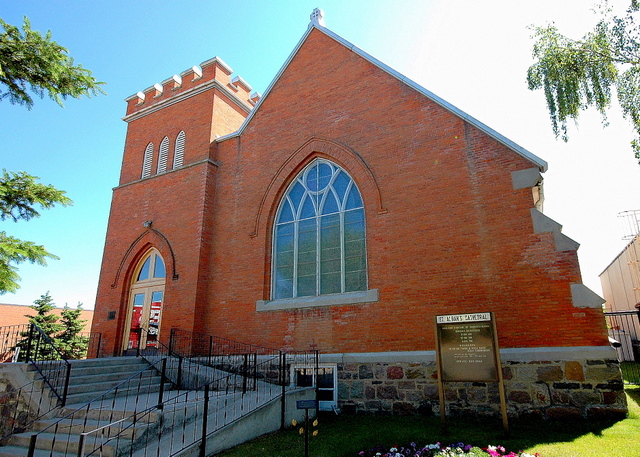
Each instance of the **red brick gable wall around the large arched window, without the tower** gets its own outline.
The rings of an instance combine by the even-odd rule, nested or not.
[[[279,197],[314,157],[360,187],[380,299],[256,312],[270,298]],[[601,311],[572,304],[575,251],[535,234],[531,189],[513,189],[511,172],[531,162],[320,32],[215,160],[218,236],[202,318],[216,335],[325,352],[422,350],[434,347],[435,315],[491,310],[502,347],[606,344]]]

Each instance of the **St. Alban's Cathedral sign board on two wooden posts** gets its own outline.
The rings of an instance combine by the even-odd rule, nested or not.
[[[445,382],[497,382],[502,426],[509,435],[507,401],[493,313],[436,316],[440,421],[446,430]]]

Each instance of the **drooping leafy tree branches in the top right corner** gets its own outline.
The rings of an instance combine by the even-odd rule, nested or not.
[[[527,72],[530,90],[541,89],[556,138],[569,139],[567,123],[594,107],[607,124],[612,98],[631,123],[631,147],[640,162],[640,0],[624,15],[612,14],[605,2],[600,20],[582,39],[569,38],[555,25],[533,27],[535,62]]]

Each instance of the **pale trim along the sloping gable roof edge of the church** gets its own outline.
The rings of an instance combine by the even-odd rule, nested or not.
[[[509,149],[514,151],[515,153],[519,154],[520,156],[524,157],[528,161],[530,161],[533,164],[535,164],[541,172],[547,171],[548,165],[547,165],[547,162],[545,160],[543,160],[540,157],[536,156],[535,154],[529,152],[528,150],[526,150],[522,146],[514,143],[509,138],[505,137],[504,135],[501,135],[500,133],[496,132],[492,128],[488,127],[487,125],[485,125],[482,122],[478,121],[474,117],[472,117],[469,114],[465,113],[464,111],[456,108],[455,106],[453,106],[452,104],[450,104],[446,100],[443,100],[442,98],[440,98],[437,95],[435,95],[433,92],[425,89],[420,84],[418,84],[415,81],[407,78],[403,74],[397,72],[396,70],[394,70],[393,68],[391,68],[388,65],[384,64],[383,62],[379,61],[378,59],[376,59],[372,55],[366,53],[365,51],[363,51],[362,49],[358,48],[354,44],[352,44],[349,41],[345,40],[340,35],[332,32],[328,28],[326,28],[326,27],[324,27],[322,25],[319,25],[319,24],[317,24],[316,22],[313,22],[313,21],[309,24],[309,27],[307,28],[307,31],[304,33],[304,35],[302,36],[300,41],[298,41],[298,44],[295,46],[295,48],[293,48],[293,51],[291,51],[291,54],[289,55],[287,60],[284,62],[284,64],[282,65],[282,67],[280,68],[280,70],[278,71],[276,76],[273,78],[273,80],[271,81],[271,83],[269,84],[267,89],[265,90],[264,94],[262,95],[262,97],[260,98],[258,103],[256,103],[256,105],[254,106],[253,110],[251,110],[251,112],[249,113],[247,118],[244,120],[244,122],[242,123],[240,128],[234,133],[231,133],[229,135],[225,135],[225,136],[222,136],[220,138],[217,138],[216,139],[217,142],[218,141],[224,141],[224,140],[229,139],[229,138],[234,138],[236,136],[241,135],[242,132],[244,132],[244,130],[247,127],[247,125],[249,124],[249,122],[251,122],[251,119],[253,119],[253,116],[256,113],[256,111],[258,111],[258,109],[260,109],[260,106],[262,105],[264,100],[269,96],[269,93],[271,92],[273,86],[275,86],[275,84],[278,82],[278,80],[280,79],[280,76],[282,76],[282,74],[285,72],[285,70],[287,69],[287,67],[289,66],[289,64],[293,60],[293,58],[296,56],[296,54],[298,53],[298,51],[302,47],[303,43],[306,41],[307,37],[311,34],[311,32],[314,29],[324,33],[325,35],[327,35],[328,37],[330,37],[333,40],[337,41],[338,43],[340,43],[341,45],[343,45],[344,47],[346,47],[350,51],[353,51],[354,53],[356,53],[357,55],[359,55],[360,57],[362,57],[363,59],[365,59],[366,61],[368,61],[372,65],[375,65],[376,67],[378,67],[382,71],[388,73],[389,75],[393,76],[394,78],[399,79],[400,81],[402,81],[407,86],[413,88],[414,90],[418,91],[420,94],[422,94],[425,97],[427,97],[429,100],[431,100],[434,103],[440,105],[441,107],[443,107],[444,109],[448,110],[452,114],[458,116],[459,118],[465,120],[466,122],[468,122],[469,124],[471,124],[472,126],[477,128],[478,130],[484,132],[485,134],[487,134],[488,136],[490,136],[494,140],[498,141],[499,143],[502,143],[504,146],[508,147]]]

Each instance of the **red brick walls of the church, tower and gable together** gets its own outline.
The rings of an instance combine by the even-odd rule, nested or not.
[[[219,126],[243,117],[230,103],[216,108],[224,96],[206,91],[129,123],[94,320],[113,347],[131,271],[150,246],[173,255],[178,274],[164,328],[323,352],[430,350],[435,315],[493,311],[501,347],[607,344],[601,310],[572,303],[576,252],[534,233],[531,189],[513,188],[511,173],[529,160],[317,30],[242,134],[210,147]],[[146,144],[157,150],[179,130],[186,167],[138,181]],[[315,157],[360,188],[379,300],[258,312],[270,299],[279,198]]]

